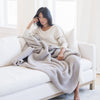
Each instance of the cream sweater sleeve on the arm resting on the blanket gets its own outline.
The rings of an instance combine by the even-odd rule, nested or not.
[[[67,43],[67,41],[64,37],[64,33],[60,27],[56,27],[55,38],[58,41],[58,44],[60,45],[61,48],[62,47],[67,48],[68,43]]]

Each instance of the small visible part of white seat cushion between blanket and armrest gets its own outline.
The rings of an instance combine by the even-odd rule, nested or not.
[[[88,59],[82,58],[80,61],[80,70],[87,71],[92,68],[92,62]]]

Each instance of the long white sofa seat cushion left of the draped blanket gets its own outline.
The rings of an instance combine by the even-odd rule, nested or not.
[[[0,68],[0,96],[49,82],[44,72],[19,66]]]

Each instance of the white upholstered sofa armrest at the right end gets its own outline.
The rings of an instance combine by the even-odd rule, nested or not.
[[[82,58],[90,60],[93,64],[94,71],[96,70],[96,47],[94,44],[79,42],[79,52]]]

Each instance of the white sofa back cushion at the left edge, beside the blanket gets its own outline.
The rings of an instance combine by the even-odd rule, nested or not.
[[[21,45],[17,36],[0,38],[0,66],[10,65],[20,52]]]

